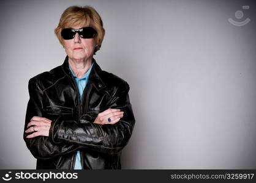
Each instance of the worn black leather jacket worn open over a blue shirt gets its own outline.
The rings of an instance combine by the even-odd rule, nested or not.
[[[102,71],[95,60],[81,99],[68,57],[63,65],[32,77],[24,131],[33,116],[53,121],[49,137],[23,134],[37,169],[73,169],[77,151],[83,169],[120,169],[121,150],[135,124],[128,91],[126,81]],[[124,117],[116,124],[92,123],[108,108],[121,109]]]

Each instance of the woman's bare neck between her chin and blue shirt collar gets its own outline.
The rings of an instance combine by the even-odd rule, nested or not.
[[[92,64],[92,57],[84,60],[70,59],[69,65],[73,73],[80,79],[89,70]]]

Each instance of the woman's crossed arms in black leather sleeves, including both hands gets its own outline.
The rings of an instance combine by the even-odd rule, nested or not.
[[[135,124],[128,91],[129,85],[122,82],[110,97],[109,109],[99,113],[95,121],[78,123],[66,120],[65,115],[51,120],[43,117],[44,93],[33,77],[29,81],[30,98],[23,133],[28,149],[37,159],[49,159],[83,148],[108,154],[121,151]]]

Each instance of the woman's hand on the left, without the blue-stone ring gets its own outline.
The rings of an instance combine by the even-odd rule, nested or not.
[[[37,136],[46,136],[49,137],[49,131],[51,127],[51,120],[43,117],[32,117],[28,123],[28,129],[25,133],[31,133],[26,138],[34,138]]]

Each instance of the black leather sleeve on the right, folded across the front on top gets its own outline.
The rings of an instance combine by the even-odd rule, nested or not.
[[[129,85],[122,82],[108,101],[107,107],[124,111],[124,117],[118,123],[102,125],[59,119],[53,127],[53,140],[64,140],[108,154],[118,153],[128,143],[135,124],[128,91]]]

